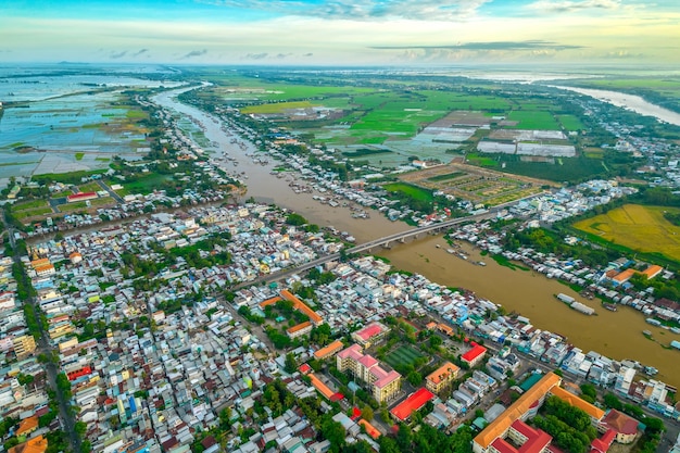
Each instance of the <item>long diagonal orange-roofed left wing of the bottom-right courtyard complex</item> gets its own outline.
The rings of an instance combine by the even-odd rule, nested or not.
[[[527,390],[515,401],[500,417],[491,421],[473,441],[475,453],[486,453],[489,445],[498,438],[504,437],[515,420],[524,420],[534,415],[545,395],[555,386],[559,386],[562,378],[554,373],[549,373],[533,387]]]

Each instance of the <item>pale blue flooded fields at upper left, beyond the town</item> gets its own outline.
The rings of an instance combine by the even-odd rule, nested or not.
[[[13,74],[0,71],[0,101],[5,106],[0,117],[0,179],[105,168],[114,154],[135,160],[138,148],[147,147],[147,130],[134,126],[129,109],[112,104],[121,99],[118,87],[162,83],[127,76]]]

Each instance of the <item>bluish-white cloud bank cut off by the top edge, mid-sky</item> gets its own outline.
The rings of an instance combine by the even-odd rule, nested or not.
[[[461,21],[475,15],[492,0],[205,0],[235,9],[327,20],[370,21],[407,18],[417,21]],[[602,0],[604,1],[604,0]]]

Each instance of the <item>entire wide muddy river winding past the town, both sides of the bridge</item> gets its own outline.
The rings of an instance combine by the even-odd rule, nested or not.
[[[310,222],[319,226],[333,226],[352,234],[357,242],[366,242],[403,231],[410,227],[404,223],[390,222],[380,213],[372,212],[368,219],[352,218],[347,207],[331,207],[313,200],[313,193],[295,193],[289,187],[288,178],[277,178],[269,174],[276,166],[274,160],[267,165],[255,164],[247,155],[254,152],[254,147],[247,143],[244,149],[231,143],[234,135],[221,129],[221,124],[210,114],[178,102],[175,97],[186,89],[166,91],[153,98],[158,104],[191,116],[203,125],[205,137],[218,144],[211,155],[217,158],[228,153],[238,164],[219,162],[227,172],[245,172],[249,178],[247,197],[257,201],[275,203],[294,210]],[[239,139],[243,141],[242,139]],[[437,248],[436,244],[441,244]],[[644,316],[633,309],[621,307],[609,312],[600,306],[597,301],[585,301],[558,281],[547,279],[531,272],[512,270],[498,265],[493,260],[482,257],[479,252],[468,248],[470,261],[481,261],[487,266],[474,265],[455,255],[446,253],[446,243],[440,236],[427,236],[421,240],[405,244],[395,244],[392,250],[382,250],[376,254],[385,256],[400,269],[425,275],[441,285],[466,288],[479,297],[500,303],[508,311],[516,311],[531,319],[542,329],[561,334],[584,352],[597,351],[612,358],[632,358],[659,370],[658,378],[672,386],[680,387],[680,353],[663,349],[653,340],[646,339],[642,330],[653,332],[653,338],[667,344],[680,336],[651,326]],[[593,306],[596,316],[585,316],[565,304],[557,302],[554,294],[559,292],[575,297]]]

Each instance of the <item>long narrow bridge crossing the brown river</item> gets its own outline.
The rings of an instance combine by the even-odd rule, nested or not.
[[[354,253],[362,253],[362,252],[370,252],[373,249],[378,248],[378,247],[387,247],[389,248],[391,243],[398,242],[398,243],[404,243],[406,241],[406,239],[411,239],[413,238],[414,240],[418,239],[420,236],[425,236],[428,234],[439,234],[445,229],[449,229],[455,225],[459,225],[463,223],[467,223],[467,222],[479,222],[479,221],[486,221],[488,218],[493,218],[496,215],[496,212],[499,211],[498,207],[492,209],[491,211],[487,211],[480,214],[475,214],[475,215],[470,215],[467,217],[458,217],[458,218],[452,218],[451,221],[446,221],[446,222],[441,222],[438,224],[432,224],[432,225],[427,225],[427,226],[423,226],[423,227],[418,227],[418,228],[413,228],[413,229],[408,229],[406,231],[402,231],[402,232],[395,232],[393,235],[390,236],[385,236],[382,238],[379,239],[374,239],[372,241],[368,242],[364,242],[362,244],[352,247],[350,249],[345,250],[347,254],[354,254]],[[306,270],[310,270],[313,267],[323,265],[328,263],[329,261],[335,261],[335,260],[339,260],[340,259],[340,253],[332,253],[329,255],[324,255],[320,257],[317,257],[316,260],[312,260],[308,261],[304,264],[300,264],[298,266],[294,267],[289,267],[286,269],[282,269],[280,272],[277,272],[275,274],[267,274],[267,275],[263,275],[261,277],[255,278],[254,280],[251,281],[244,281],[242,284],[239,284],[237,286],[234,287],[234,290],[238,291],[239,289],[249,287],[249,286],[253,286],[253,285],[261,285],[261,284],[266,284],[266,282],[270,282],[270,281],[276,281],[276,280],[281,280],[288,277],[291,277],[294,274],[300,274],[300,273],[304,273]]]

